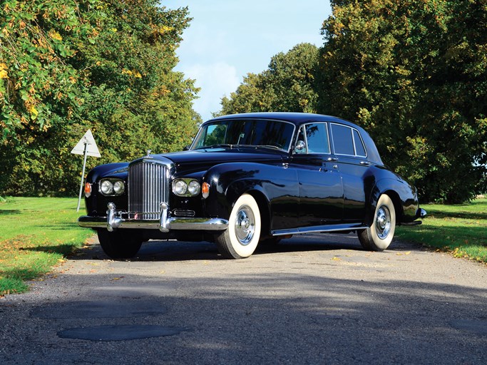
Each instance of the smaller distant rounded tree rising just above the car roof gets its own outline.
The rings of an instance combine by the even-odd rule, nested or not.
[[[309,43],[294,46],[271,58],[262,73],[249,73],[230,98],[222,98],[218,115],[255,111],[313,112],[317,93],[314,75],[318,49]]]

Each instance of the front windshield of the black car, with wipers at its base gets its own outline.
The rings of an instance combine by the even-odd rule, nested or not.
[[[294,124],[279,120],[219,120],[203,125],[191,149],[251,145],[288,151],[293,133]]]

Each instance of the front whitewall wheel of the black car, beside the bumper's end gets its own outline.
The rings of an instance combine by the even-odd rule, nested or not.
[[[226,259],[249,257],[259,243],[260,229],[259,205],[252,195],[241,195],[232,208],[227,229],[215,235],[220,255]]]

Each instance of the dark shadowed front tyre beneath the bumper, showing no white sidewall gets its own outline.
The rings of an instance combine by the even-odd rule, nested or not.
[[[137,255],[142,245],[142,235],[137,230],[98,230],[98,240],[103,252],[112,259],[129,259]]]

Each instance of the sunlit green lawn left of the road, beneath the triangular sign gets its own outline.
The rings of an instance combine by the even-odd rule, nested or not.
[[[8,197],[0,201],[0,296],[26,292],[93,235],[78,227],[78,200]]]

